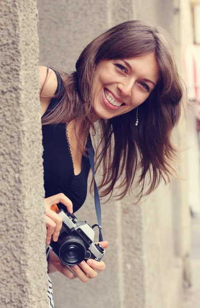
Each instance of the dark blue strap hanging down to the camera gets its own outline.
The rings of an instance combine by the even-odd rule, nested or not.
[[[92,145],[92,140],[91,140],[91,136],[89,134],[88,136],[88,157],[89,157],[89,162],[90,162],[90,166],[92,169],[92,175],[93,175],[93,179],[94,179],[94,204],[95,204],[95,210],[96,210],[96,217],[97,217],[97,221],[98,224],[93,225],[93,227],[98,226],[98,230],[99,230],[99,242],[103,241],[103,236],[102,236],[102,212],[101,212],[101,203],[100,203],[100,199],[99,199],[99,195],[98,195],[98,188],[96,185],[96,181],[94,178],[94,148]],[[93,228],[92,227],[92,228]]]

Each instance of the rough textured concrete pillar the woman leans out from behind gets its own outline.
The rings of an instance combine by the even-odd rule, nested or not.
[[[35,0],[0,10],[0,306],[47,307]]]

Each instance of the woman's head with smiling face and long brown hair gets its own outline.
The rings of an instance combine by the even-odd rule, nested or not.
[[[141,21],[119,24],[83,50],[75,72],[59,74],[64,84],[55,95],[59,103],[45,114],[43,125],[68,123],[72,148],[85,155],[89,129],[99,121],[96,168],[103,161],[102,196],[112,195],[120,178],[121,190],[114,197],[124,197],[138,168],[139,196],[153,191],[161,179],[169,180],[175,157],[171,132],[181,114],[183,87],[164,29]],[[46,89],[52,78],[51,72]],[[144,191],[148,174],[150,185]]]

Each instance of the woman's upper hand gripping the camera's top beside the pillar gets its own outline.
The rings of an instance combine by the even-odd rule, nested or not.
[[[55,213],[55,211],[51,210],[51,206],[57,204],[59,202],[63,203],[69,213],[73,213],[72,210],[72,202],[67,198],[64,194],[57,194],[45,199],[45,206],[46,206],[46,214],[45,214],[45,221],[47,226],[47,237],[46,237],[46,244],[50,244],[51,237],[54,242],[58,240],[59,232],[61,231],[63,220],[62,217]]]

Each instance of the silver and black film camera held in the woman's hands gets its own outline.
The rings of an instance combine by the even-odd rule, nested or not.
[[[59,209],[57,214],[62,217],[63,226],[58,241],[51,240],[48,246],[59,260],[69,268],[87,259],[101,261],[105,249],[100,244],[93,243],[94,230],[89,224],[86,221],[77,221],[73,214],[64,212],[63,209]]]

